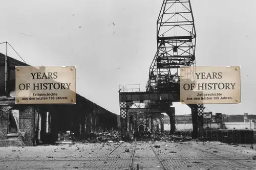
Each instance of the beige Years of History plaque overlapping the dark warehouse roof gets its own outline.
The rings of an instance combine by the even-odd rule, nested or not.
[[[75,66],[16,66],[16,104],[75,104]]]

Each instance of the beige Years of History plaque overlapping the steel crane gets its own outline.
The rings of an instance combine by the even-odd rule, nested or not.
[[[180,68],[182,104],[237,104],[241,102],[239,66]]]

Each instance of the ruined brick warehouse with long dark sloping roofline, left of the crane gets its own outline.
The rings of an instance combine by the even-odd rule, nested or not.
[[[117,128],[117,115],[76,94],[75,105],[15,104],[15,66],[28,66],[0,53],[0,146],[55,143],[71,131],[83,139],[96,130]]]

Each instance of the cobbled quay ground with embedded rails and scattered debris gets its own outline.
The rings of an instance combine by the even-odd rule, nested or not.
[[[155,148],[156,147],[156,148]],[[255,158],[253,156],[255,155]],[[255,159],[255,160],[254,160]],[[219,142],[80,143],[0,148],[0,169],[255,169],[256,151]],[[136,168],[133,168],[136,167]]]

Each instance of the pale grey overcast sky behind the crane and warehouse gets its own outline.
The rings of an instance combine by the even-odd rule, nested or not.
[[[145,90],[156,53],[160,0],[5,1],[0,41],[30,65],[77,67],[77,92],[119,114],[119,85]],[[241,104],[206,105],[206,111],[255,114],[256,1],[191,0],[197,31],[197,66],[240,65]],[[4,45],[0,52],[5,53]],[[19,59],[11,52],[9,56]],[[189,114],[175,104],[176,114]]]

